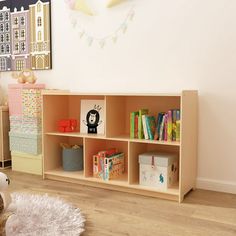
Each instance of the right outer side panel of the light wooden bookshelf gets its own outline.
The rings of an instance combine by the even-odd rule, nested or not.
[[[180,193],[183,196],[195,188],[197,177],[197,91],[183,91],[181,97]],[[181,200],[180,199],[180,200]]]

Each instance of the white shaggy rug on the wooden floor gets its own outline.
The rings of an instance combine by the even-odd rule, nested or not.
[[[13,193],[8,210],[7,236],[78,236],[85,219],[80,209],[48,195]]]

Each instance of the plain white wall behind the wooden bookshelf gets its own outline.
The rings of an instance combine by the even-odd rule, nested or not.
[[[198,187],[236,193],[236,1],[134,2],[126,34],[101,49],[80,40],[64,1],[53,0],[53,69],[37,72],[39,82],[82,92],[199,90]],[[11,82],[1,74],[3,87]]]

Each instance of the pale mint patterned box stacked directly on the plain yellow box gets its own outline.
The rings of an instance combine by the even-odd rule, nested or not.
[[[10,150],[33,155],[42,153],[42,135],[9,132]]]

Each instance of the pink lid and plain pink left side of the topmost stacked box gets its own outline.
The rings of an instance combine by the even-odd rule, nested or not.
[[[44,84],[9,84],[8,85],[8,100],[9,100],[9,113],[11,115],[23,115],[23,92],[35,89],[40,91],[44,89]]]

